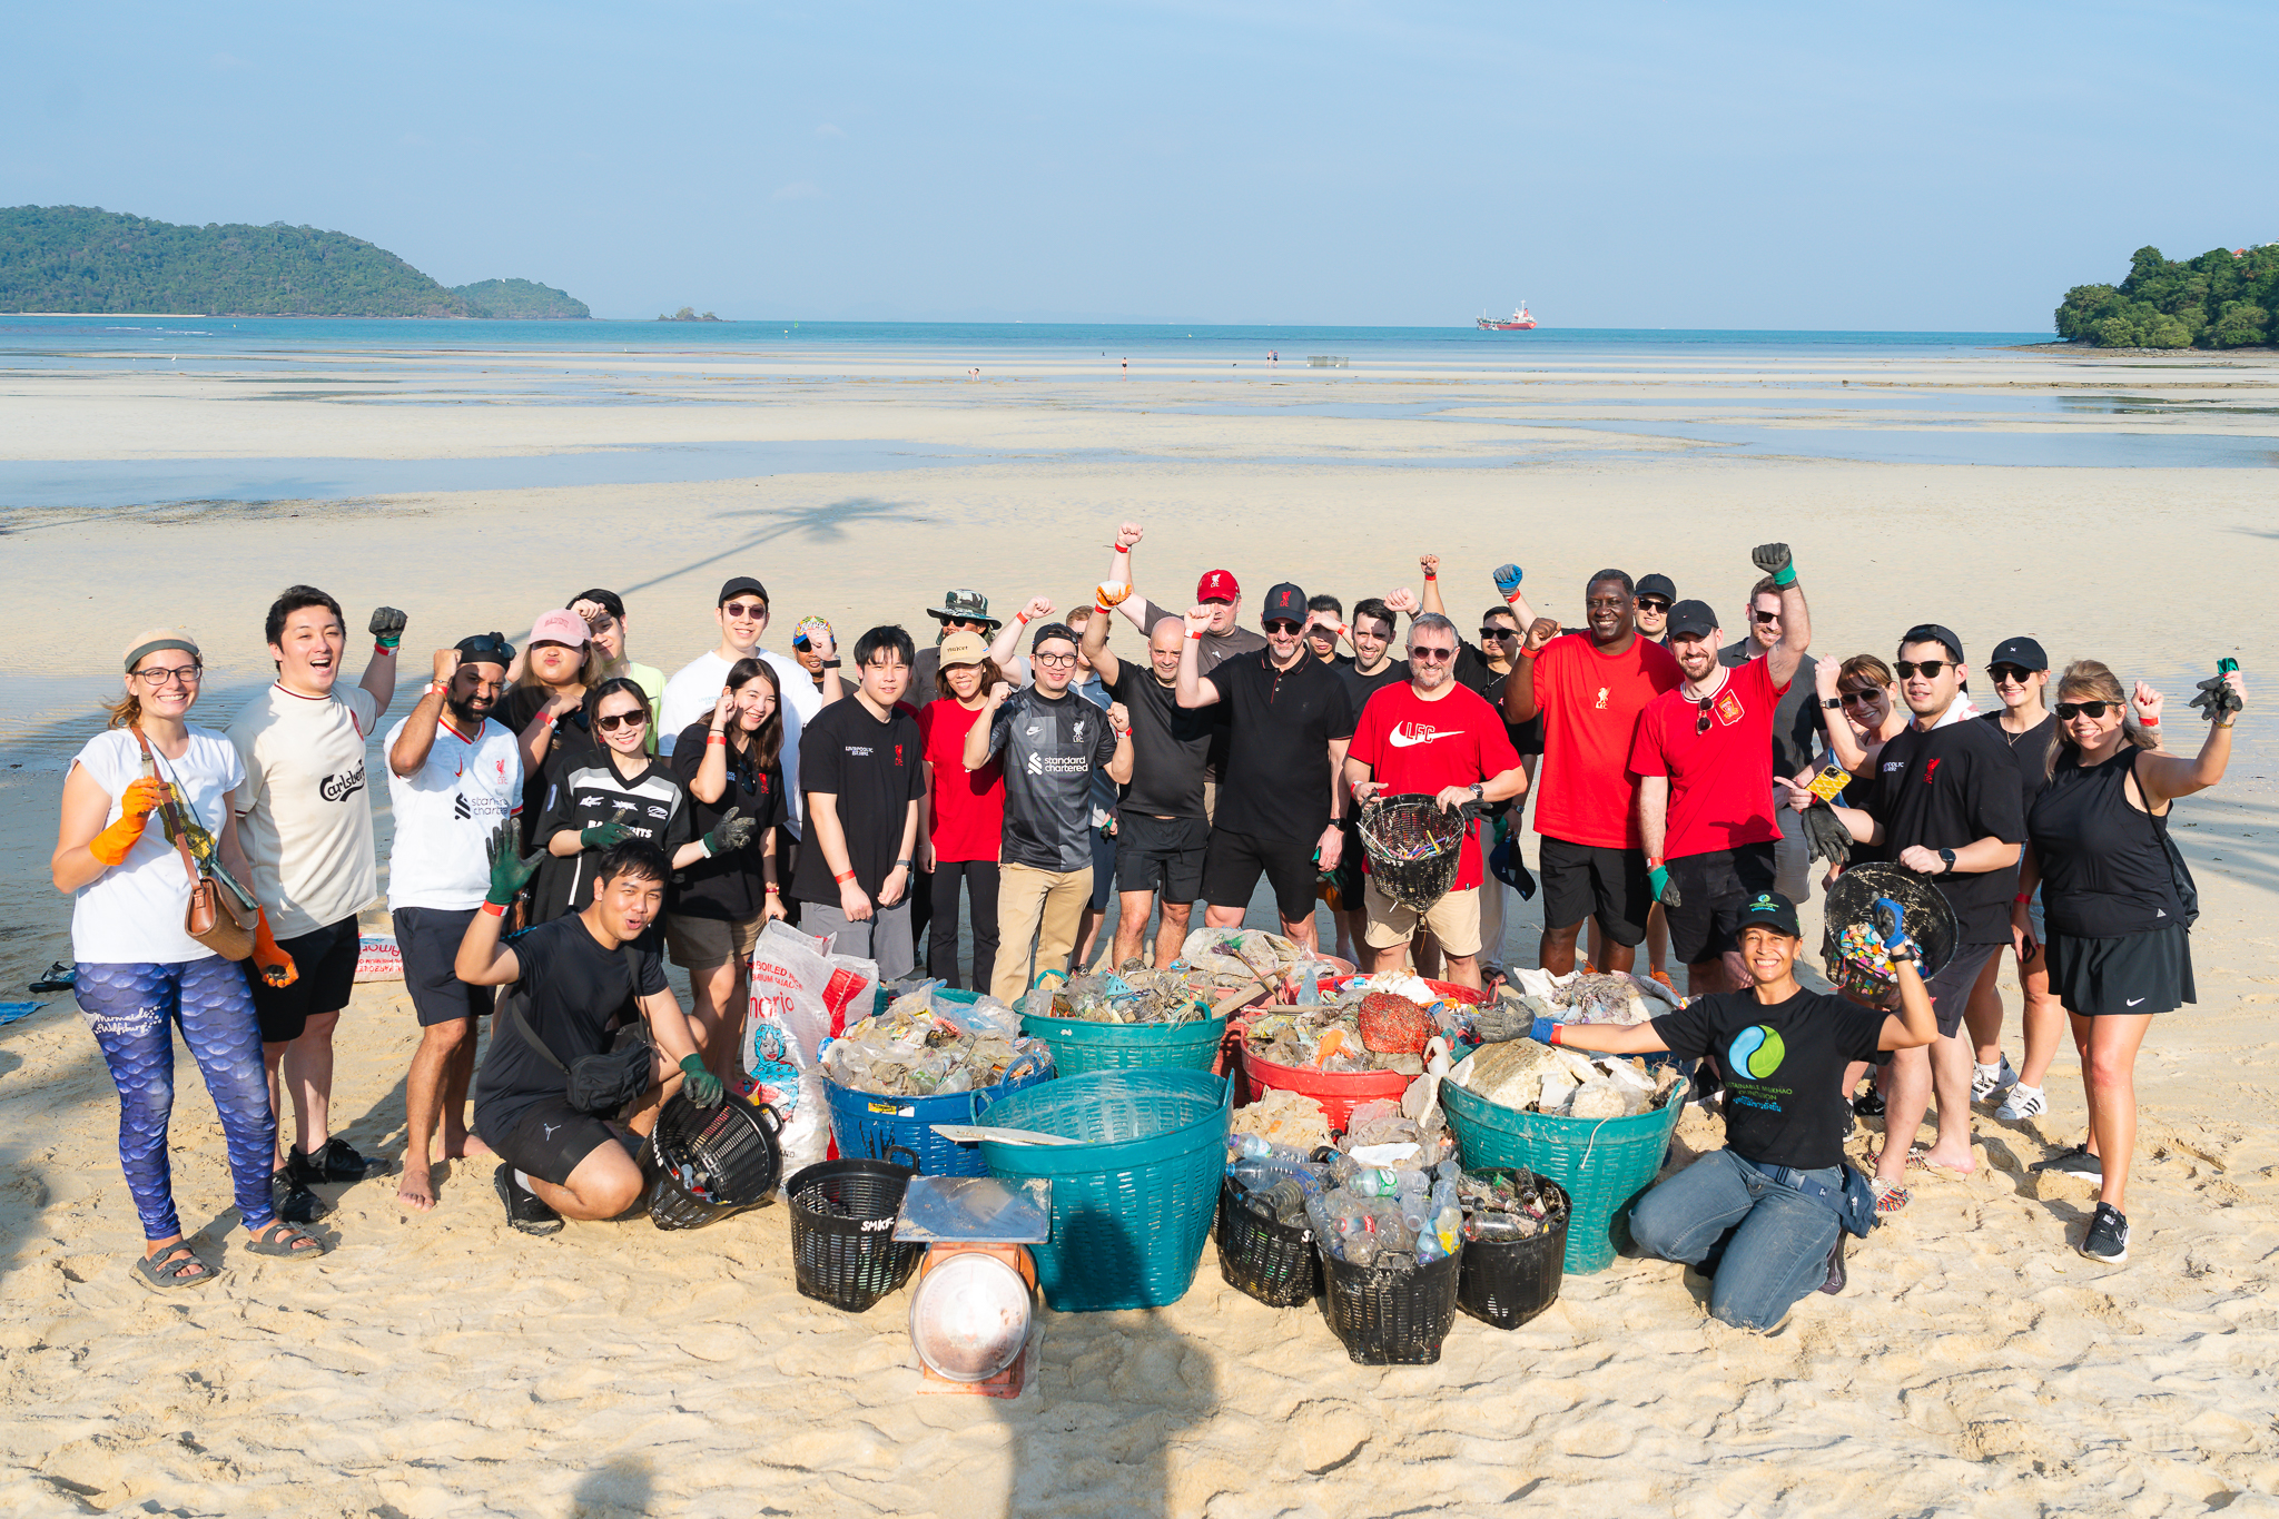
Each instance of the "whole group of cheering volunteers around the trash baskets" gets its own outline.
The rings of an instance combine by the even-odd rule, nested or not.
[[[146,1280],[214,1275],[171,1200],[171,1027],[221,1109],[248,1248],[321,1253],[303,1227],[326,1207],[315,1187],[381,1168],[330,1132],[333,1029],[358,913],[378,897],[374,733],[394,811],[387,909],[422,1025],[408,1209],[435,1205],[442,1161],[490,1155],[520,1230],[624,1212],[661,1102],[713,1105],[741,1077],[768,920],[830,936],[889,982],[918,970],[923,945],[928,975],[1012,1002],[1053,970],[1167,966],[1196,902],[1206,925],[1240,925],[1265,881],[1290,938],[1317,947],[1329,902],[1365,968],[1484,991],[1502,977],[1506,890],[1541,890],[1536,963],[1554,975],[1634,970],[1645,943],[1648,975],[1671,979],[1675,956],[1693,993],[1680,1013],[1559,1038],[1707,1057],[1730,1161],[1657,1189],[1636,1234],[1714,1264],[1714,1307],[1734,1321],[1778,1319],[1814,1271],[1841,1278],[1816,1225],[1860,1193],[1839,1152],[1853,1111],[1880,1105],[1892,1141],[1848,1207],[1898,1212],[1908,1166],[1971,1166],[1974,1100],[2047,1111],[2067,1023],[2090,1130],[2053,1166],[2101,1184],[2081,1248],[2126,1259],[2135,1050],[2151,1016],[2192,1000],[2188,877],[2165,815],[2222,777],[2236,672],[2204,683],[2211,731],[2181,758],[2160,749],[2156,692],[2124,697],[2094,660],[2053,676],[2031,638],[1994,651],[1990,711],[1937,624],[1908,629],[1889,665],[1814,660],[1784,544],[1750,556],[1737,640],[1671,576],[1620,569],[1588,576],[1582,624],[1563,629],[1502,565],[1475,642],[1447,615],[1438,556],[1422,556],[1422,588],[1349,613],[1276,583],[1244,626],[1226,569],[1185,610],[1146,597],[1142,540],[1140,524],[1117,528],[1089,604],[1032,597],[1000,619],[985,594],[950,590],[928,608],[928,647],[875,626],[852,672],[820,617],[789,654],[766,649],[773,606],[752,576],[720,585],[718,644],[670,679],[631,660],[624,601],[586,590],[520,647],[490,631],[435,649],[385,733],[406,631],[392,608],[371,615],[371,658],[346,685],[340,604],[283,592],[267,619],[276,683],[226,731],[189,722],[196,642],[137,638],[109,726],[66,777],[52,870],[75,893],[77,995],[121,1093]],[[1119,617],[1144,658],[1110,649]],[[1518,838],[1529,793],[1534,872]],[[1463,822],[1454,881],[1424,906],[1370,868],[1386,797]],[[1896,1013],[1796,984],[1816,827],[1848,836],[1855,863],[1923,877],[1953,911],[1958,947],[1928,977],[1896,970]],[[258,902],[242,961],[185,918],[212,879]],[[1896,909],[1885,929],[1905,961]],[[2001,1054],[2003,959],[2024,993],[2017,1070]],[[476,1020],[492,1013],[479,1068]],[[1937,1143],[1914,1150],[1933,1102]],[[1798,1198],[1819,1207],[1812,1230],[1757,1212],[1794,1214]]]

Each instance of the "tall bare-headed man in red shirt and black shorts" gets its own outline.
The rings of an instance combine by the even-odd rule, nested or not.
[[[1639,713],[1677,685],[1677,660],[1639,638],[1629,576],[1600,569],[1584,588],[1582,633],[1538,617],[1504,681],[1504,720],[1543,715],[1536,831],[1543,836],[1543,952],[1552,975],[1575,970],[1575,938],[1598,918],[1604,966],[1629,970],[1655,904],[1639,836],[1629,742]],[[1771,793],[1766,793],[1771,795]]]

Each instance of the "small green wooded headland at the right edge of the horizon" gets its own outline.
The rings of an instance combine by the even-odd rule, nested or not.
[[[2279,244],[2211,248],[2183,264],[2138,248],[2119,285],[2076,285],[2058,337],[2099,348],[2247,348],[2279,342]]]

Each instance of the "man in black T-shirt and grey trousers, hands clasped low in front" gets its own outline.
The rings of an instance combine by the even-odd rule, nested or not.
[[[916,966],[909,927],[918,797],[925,795],[918,722],[896,704],[909,690],[912,647],[900,626],[855,640],[861,685],[800,733],[807,847],[791,872],[800,927],[832,934],[839,954],[877,961],[893,982]]]

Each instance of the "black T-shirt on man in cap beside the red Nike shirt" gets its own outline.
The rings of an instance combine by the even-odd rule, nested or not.
[[[1329,827],[1329,742],[1354,736],[1345,676],[1304,654],[1276,670],[1242,654],[1210,672],[1226,706],[1228,761],[1212,824],[1279,843],[1313,843]]]

